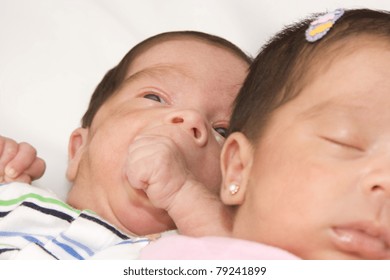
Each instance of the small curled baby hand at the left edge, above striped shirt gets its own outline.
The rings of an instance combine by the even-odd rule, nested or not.
[[[45,168],[45,162],[30,144],[0,136],[0,183],[30,184],[43,175]]]

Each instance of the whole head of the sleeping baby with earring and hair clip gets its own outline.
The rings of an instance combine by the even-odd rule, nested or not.
[[[322,38],[305,36],[313,19],[288,27],[255,59],[222,199],[238,205],[236,237],[306,259],[390,258],[390,14],[341,14],[316,22]]]

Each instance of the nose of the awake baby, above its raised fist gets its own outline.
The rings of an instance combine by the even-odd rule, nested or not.
[[[168,122],[180,126],[189,133],[199,146],[207,143],[208,132],[204,118],[195,110],[181,110],[171,113]]]

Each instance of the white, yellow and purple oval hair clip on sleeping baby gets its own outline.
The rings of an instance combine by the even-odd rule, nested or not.
[[[320,40],[343,14],[343,9],[337,9],[316,18],[310,23],[309,28],[306,29],[306,40],[309,42]]]

